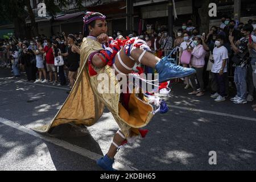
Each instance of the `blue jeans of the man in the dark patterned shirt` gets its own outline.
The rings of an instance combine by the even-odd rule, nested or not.
[[[234,72],[234,82],[237,86],[237,96],[245,100],[247,95],[247,84],[246,84],[246,67],[236,67]]]

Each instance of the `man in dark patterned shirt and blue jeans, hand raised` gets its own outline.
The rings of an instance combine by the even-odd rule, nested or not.
[[[250,35],[253,31],[253,26],[251,24],[245,24],[243,26],[241,33],[243,38],[240,40],[240,44],[236,46],[234,44],[234,37],[232,33],[229,35],[229,42],[232,46],[232,49],[235,55],[232,57],[234,63],[235,72],[234,72],[234,82],[237,87],[237,95],[231,98],[234,104],[246,104],[247,97],[247,71],[250,64],[250,53],[248,49],[248,44],[250,43]],[[250,92],[250,90],[249,90]],[[250,96],[251,93],[249,93]]]

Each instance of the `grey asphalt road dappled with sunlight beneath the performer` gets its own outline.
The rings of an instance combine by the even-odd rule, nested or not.
[[[108,152],[118,127],[111,113],[96,125],[57,127],[52,136],[31,130],[51,121],[67,98],[67,87],[32,84],[0,68],[0,170],[101,170],[96,159]],[[188,96],[174,84],[164,98],[170,111],[155,115],[144,139],[122,148],[120,170],[255,170],[256,117],[251,104],[214,103],[209,94]],[[217,164],[209,164],[209,152]]]

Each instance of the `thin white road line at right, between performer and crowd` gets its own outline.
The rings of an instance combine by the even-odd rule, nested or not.
[[[247,121],[256,121],[256,118],[250,118],[250,117],[245,117],[245,116],[241,116],[241,115],[234,115],[234,114],[227,114],[227,113],[220,113],[220,112],[210,111],[210,110],[194,109],[192,107],[182,107],[182,106],[176,106],[176,105],[171,105],[170,107],[175,108],[175,109],[182,109],[182,110],[195,111],[195,112],[200,112],[200,113],[221,115],[221,116],[232,117],[232,118],[237,118],[237,119],[244,119]]]

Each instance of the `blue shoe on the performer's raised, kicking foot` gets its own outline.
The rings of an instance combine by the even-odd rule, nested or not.
[[[195,69],[184,68],[171,63],[168,57],[163,57],[156,65],[156,72],[159,74],[159,83],[166,82],[175,78],[188,77],[196,73]]]

